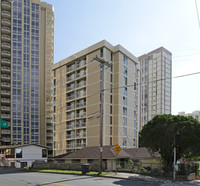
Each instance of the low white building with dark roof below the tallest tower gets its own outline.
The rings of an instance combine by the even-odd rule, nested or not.
[[[27,144],[0,146],[0,166],[24,168],[35,161],[47,162],[48,147]]]

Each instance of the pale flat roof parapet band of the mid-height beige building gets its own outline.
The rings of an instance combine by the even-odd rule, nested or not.
[[[138,59],[132,54],[130,53],[128,50],[126,50],[123,46],[121,45],[116,45],[116,46],[113,46],[111,45],[108,41],[106,40],[102,40],[84,50],[81,50],[80,52],[77,52],[75,53],[74,55],[70,56],[70,57],[67,57],[59,62],[57,62],[56,64],[54,64],[54,68],[53,69],[56,69],[56,68],[59,68],[63,65],[66,65],[67,63],[73,61],[73,60],[76,60],[76,59],[79,59],[81,57],[84,57],[85,55],[88,55],[102,47],[106,47],[107,49],[111,50],[112,52],[118,52],[120,51],[121,53],[125,54],[127,57],[129,57],[130,59],[132,59],[133,61],[135,61],[136,63],[138,63]]]

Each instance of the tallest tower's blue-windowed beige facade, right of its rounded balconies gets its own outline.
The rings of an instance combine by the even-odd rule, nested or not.
[[[3,3],[11,6],[3,0],[2,8]],[[1,87],[8,86],[5,90],[9,96],[4,96],[4,99],[9,103],[5,109],[9,109],[6,116],[10,128],[0,133],[3,136],[4,131],[8,132],[6,140],[10,143],[37,143],[52,147],[53,7],[40,0],[13,0],[11,15],[5,20],[7,24],[3,34],[6,35],[2,38],[11,38],[8,44],[12,47],[1,60],[1,64],[5,63],[6,69],[10,69],[7,81],[1,76],[1,82],[5,81]],[[1,88],[1,98],[5,93]],[[1,113],[1,116],[4,115]]]

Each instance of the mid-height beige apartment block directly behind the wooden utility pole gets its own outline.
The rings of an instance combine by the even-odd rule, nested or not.
[[[104,73],[96,56],[110,64]],[[99,145],[102,101],[103,145],[137,147],[139,81],[138,59],[105,40],[56,63],[54,155]]]

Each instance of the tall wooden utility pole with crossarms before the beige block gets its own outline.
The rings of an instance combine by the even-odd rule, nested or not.
[[[102,173],[102,155],[103,155],[103,115],[104,115],[104,70],[105,66],[110,67],[111,65],[104,59],[100,59],[97,56],[93,58],[92,61],[98,61],[100,63],[100,68],[102,69],[102,81],[100,85],[100,135],[99,135],[99,174]]]

